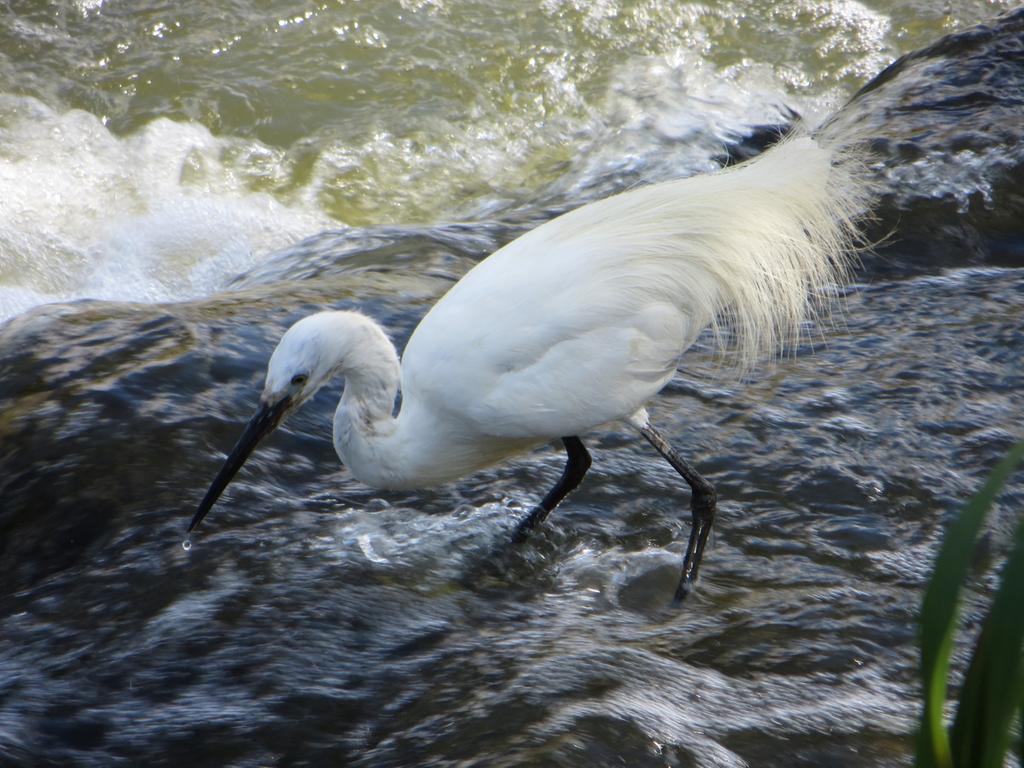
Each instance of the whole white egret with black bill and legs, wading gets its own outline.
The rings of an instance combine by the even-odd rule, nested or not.
[[[423,318],[400,362],[362,314],[299,321],[273,351],[259,410],[188,530],[257,442],[343,376],[335,449],[373,487],[444,483],[560,437],[564,473],[517,539],[583,479],[591,458],[580,435],[626,420],[691,489],[681,599],[697,575],[716,493],[650,423],[645,403],[709,325],[743,367],[796,339],[846,276],[866,199],[855,168],[801,137],[734,168],[585,205],[471,269]]]

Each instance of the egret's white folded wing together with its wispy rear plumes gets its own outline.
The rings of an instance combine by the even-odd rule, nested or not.
[[[630,416],[709,324],[741,361],[776,350],[844,272],[865,197],[850,167],[801,138],[542,224],[424,317],[404,396],[481,434],[555,437]]]

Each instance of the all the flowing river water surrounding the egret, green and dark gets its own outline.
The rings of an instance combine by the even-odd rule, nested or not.
[[[909,764],[923,585],[1021,433],[1006,10],[5,3],[0,765]],[[682,609],[688,494],[625,427],[496,570],[561,454],[374,493],[334,456],[338,386],[183,546],[289,323],[359,308],[400,349],[525,227],[796,114],[868,140],[880,245],[814,343],[742,382],[698,346],[651,403],[721,499]]]

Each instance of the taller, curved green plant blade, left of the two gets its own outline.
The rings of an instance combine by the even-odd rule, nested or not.
[[[918,740],[920,768],[952,768],[949,734],[942,719],[949,654],[959,606],[961,585],[971,566],[975,540],[1007,478],[1024,457],[1024,441],[1004,458],[982,488],[946,530],[921,609],[921,674],[925,694]]]

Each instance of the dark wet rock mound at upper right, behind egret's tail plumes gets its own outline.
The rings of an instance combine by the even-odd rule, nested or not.
[[[824,131],[871,150],[872,271],[1024,265],[1024,9],[901,56]]]

